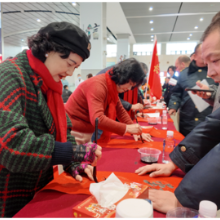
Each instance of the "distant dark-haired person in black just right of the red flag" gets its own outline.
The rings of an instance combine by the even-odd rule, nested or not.
[[[175,76],[175,72],[176,72],[176,67],[175,66],[169,66],[167,72],[170,75],[170,79],[175,79],[178,80],[178,76]],[[174,85],[171,85],[168,83],[165,83],[163,86],[163,89],[165,89],[164,91],[164,101],[166,102],[167,106],[169,106],[169,101],[170,101],[170,97],[172,95],[173,89],[174,89]]]

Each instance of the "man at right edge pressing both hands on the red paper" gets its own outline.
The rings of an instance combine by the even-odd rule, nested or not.
[[[209,25],[202,37],[202,57],[208,76],[220,83],[220,18]],[[161,212],[178,206],[198,210],[202,200],[220,207],[220,108],[206,117],[170,154],[168,164],[153,164],[136,170],[138,175],[170,176],[177,168],[187,173],[174,193],[151,190],[149,199]]]

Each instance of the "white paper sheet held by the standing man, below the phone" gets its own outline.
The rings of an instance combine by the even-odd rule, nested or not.
[[[204,85],[209,86],[209,84],[208,84],[208,82],[207,82],[206,79],[203,79],[203,80],[201,81],[201,83],[204,84]],[[200,87],[196,85],[196,86],[193,87],[193,89],[200,89]],[[194,102],[194,104],[195,104],[195,106],[197,107],[197,109],[198,109],[199,112],[202,112],[202,111],[204,111],[206,108],[209,107],[209,104],[208,104],[206,101],[204,101],[201,97],[192,94],[191,91],[188,91],[188,94],[189,94],[189,96],[191,97],[192,101]]]

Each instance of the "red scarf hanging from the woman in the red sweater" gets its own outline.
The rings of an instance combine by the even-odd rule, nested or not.
[[[106,83],[108,87],[108,97],[107,97],[107,109],[105,111],[106,116],[112,120],[116,120],[116,105],[118,102],[118,92],[117,87],[114,81],[111,80],[111,76],[109,75],[109,72],[111,72],[112,69],[108,70],[105,73]],[[103,131],[103,134],[101,138],[99,139],[100,142],[108,142],[110,140],[112,132],[109,131]]]

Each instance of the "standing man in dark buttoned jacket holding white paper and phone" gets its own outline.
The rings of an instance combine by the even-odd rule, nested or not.
[[[195,48],[194,60],[188,68],[185,68],[180,73],[169,102],[169,114],[175,114],[180,108],[179,129],[184,136],[188,135],[199,123],[204,121],[205,117],[212,113],[213,109],[212,106],[209,106],[204,111],[199,112],[188,92],[185,91],[186,88],[194,87],[197,81],[202,81],[203,79],[206,79],[209,85],[214,84],[213,79],[207,78],[207,66],[201,56],[201,44],[199,44]],[[186,56],[181,56],[177,59],[177,67],[182,57]],[[188,62],[190,62],[189,58]]]

